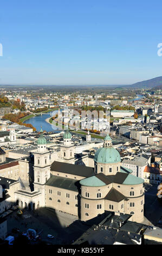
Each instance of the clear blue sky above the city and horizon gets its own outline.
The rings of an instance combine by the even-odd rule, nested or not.
[[[5,0],[0,84],[131,84],[162,75],[161,0]]]

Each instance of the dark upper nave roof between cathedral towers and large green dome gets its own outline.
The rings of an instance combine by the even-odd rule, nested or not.
[[[51,171],[90,177],[95,175],[94,168],[87,166],[79,166],[77,164],[62,163],[54,161],[50,167]]]

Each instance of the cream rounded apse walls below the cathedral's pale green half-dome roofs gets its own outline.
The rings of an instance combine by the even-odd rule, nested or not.
[[[117,191],[124,194],[128,200],[121,202],[112,202],[105,199],[107,193],[114,187]],[[134,196],[130,196],[130,192],[134,191]],[[86,193],[89,197],[86,197]],[[101,197],[97,198],[96,194],[101,193]],[[100,187],[81,186],[81,220],[87,221],[91,218],[102,214],[105,210],[125,212],[126,214],[134,214],[131,217],[132,221],[142,221],[144,218],[144,188],[143,184],[139,185],[124,185],[124,184],[109,184]],[[86,208],[86,205],[89,208]],[[113,205],[113,209],[109,209],[109,205]],[[124,208],[121,205],[124,204]],[[97,209],[97,205],[101,205],[101,209]],[[88,215],[87,215],[88,214]]]

